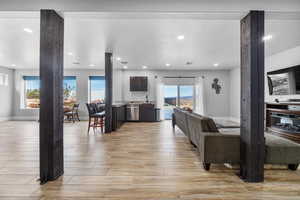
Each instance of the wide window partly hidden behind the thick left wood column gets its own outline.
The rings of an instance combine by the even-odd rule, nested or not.
[[[23,76],[24,79],[24,107],[40,107],[40,78],[39,76]],[[76,76],[64,77],[64,105],[73,106],[76,103]]]

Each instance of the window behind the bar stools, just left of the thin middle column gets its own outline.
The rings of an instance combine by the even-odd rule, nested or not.
[[[104,76],[90,76],[90,102],[104,103],[105,100],[105,77]]]

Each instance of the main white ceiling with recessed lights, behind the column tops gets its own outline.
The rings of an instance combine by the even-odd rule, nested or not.
[[[38,68],[38,16],[38,12],[0,13],[0,66]],[[141,69],[142,65],[158,70],[238,67],[242,16],[240,12],[64,13],[65,68],[103,69],[107,49],[115,57],[128,61],[129,69]],[[272,34],[273,39],[266,43],[266,55],[300,45],[300,20],[296,20],[299,13],[284,16],[267,15],[265,32]],[[33,33],[24,32],[24,28]],[[177,40],[178,35],[184,35],[185,39]],[[69,52],[73,55],[68,55]],[[193,64],[187,66],[187,61]],[[116,67],[122,67],[115,63]],[[171,67],[166,67],[166,63]],[[214,63],[219,63],[219,67],[213,67]]]

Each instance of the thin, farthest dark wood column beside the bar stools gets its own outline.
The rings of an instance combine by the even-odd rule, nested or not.
[[[105,53],[105,133],[112,132],[112,53]]]

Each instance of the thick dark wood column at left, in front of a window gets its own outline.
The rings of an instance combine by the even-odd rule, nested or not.
[[[40,20],[40,181],[44,184],[64,173],[64,19],[54,10],[41,10]]]

